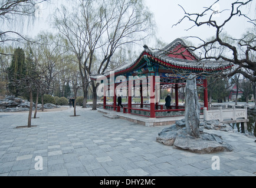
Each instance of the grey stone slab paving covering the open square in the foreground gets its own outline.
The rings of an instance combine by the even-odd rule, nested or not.
[[[19,129],[28,113],[0,113],[0,176],[256,176],[255,137],[208,130],[234,151],[191,153],[156,142],[169,125],[146,127],[81,108],[73,117],[72,110],[38,112],[36,126]]]

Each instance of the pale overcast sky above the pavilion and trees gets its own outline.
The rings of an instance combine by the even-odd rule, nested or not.
[[[49,12],[49,8],[51,7],[57,7],[61,5],[61,2],[63,1],[52,1],[53,4],[49,5],[47,3],[41,4],[41,14],[39,14],[37,20],[35,21],[34,26],[29,27],[27,31],[27,35],[31,35],[31,33],[34,33],[34,36],[41,30],[48,29],[50,27],[49,24],[47,24],[47,21],[49,21],[49,15],[53,14],[54,12]],[[170,43],[176,38],[182,38],[183,36],[199,36],[203,39],[209,38],[214,35],[214,29],[209,28],[208,26],[200,27],[200,28],[193,28],[189,31],[185,31],[185,29],[188,29],[191,27],[192,23],[188,22],[188,19],[185,19],[181,24],[173,26],[176,24],[179,19],[183,18],[184,12],[182,8],[180,8],[181,5],[187,12],[189,13],[201,13],[204,11],[204,7],[212,5],[215,0],[145,0],[146,6],[150,9],[150,11],[153,12],[155,15],[155,21],[157,25],[157,38],[161,39],[165,43]],[[221,1],[219,2],[215,8],[219,10],[224,9],[231,9],[231,0]],[[251,18],[255,19],[255,4],[256,1],[252,2],[250,6],[247,6],[245,9],[245,14],[250,14]],[[225,11],[220,16],[216,15],[217,21],[223,21],[227,18],[227,14],[229,14],[229,11]],[[46,23],[46,24],[45,24]],[[252,27],[252,24],[248,24],[247,21],[245,21],[244,18],[235,18],[232,19],[227,26],[225,26],[225,31],[234,37],[239,37],[242,35],[242,33],[245,32],[246,28]],[[33,32],[31,32],[31,30]],[[195,41],[192,41],[195,42]],[[148,44],[149,46],[152,44]],[[150,46],[154,47],[154,46]]]

